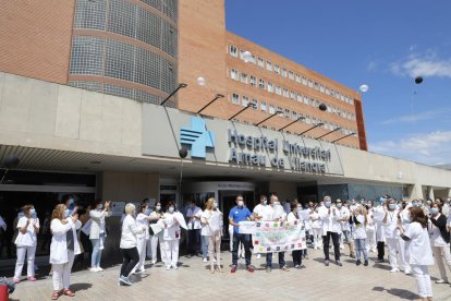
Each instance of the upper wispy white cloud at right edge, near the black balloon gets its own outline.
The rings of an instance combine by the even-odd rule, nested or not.
[[[451,77],[451,58],[438,58],[434,50],[427,50],[425,53],[413,52],[416,47],[411,47],[411,53],[407,58],[392,62],[390,71],[401,76],[437,76]]]

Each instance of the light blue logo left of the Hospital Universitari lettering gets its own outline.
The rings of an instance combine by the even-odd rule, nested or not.
[[[191,118],[191,127],[180,129],[182,144],[191,145],[191,156],[206,157],[206,148],[215,147],[215,133],[207,131],[205,121],[198,117]]]

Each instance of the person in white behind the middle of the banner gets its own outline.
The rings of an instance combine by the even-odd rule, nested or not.
[[[296,203],[297,204],[297,203]],[[297,206],[296,206],[297,209]],[[272,194],[269,198],[269,206],[266,206],[264,214],[264,221],[280,221],[287,220],[287,214],[283,207],[280,205],[279,198]],[[278,252],[279,267],[282,270],[288,270],[285,265],[285,252]],[[266,273],[272,270],[272,253],[266,253]]]

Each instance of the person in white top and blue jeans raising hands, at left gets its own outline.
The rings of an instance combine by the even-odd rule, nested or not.
[[[105,238],[107,237],[106,231],[106,217],[111,216],[110,210],[111,202],[105,202],[105,206],[100,200],[95,201],[92,204],[89,210],[90,217],[90,229],[89,240],[93,244],[93,254],[90,257],[90,272],[101,272],[103,268],[100,267],[101,252],[105,245]]]

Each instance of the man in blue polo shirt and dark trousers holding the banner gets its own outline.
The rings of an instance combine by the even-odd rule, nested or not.
[[[236,196],[236,206],[230,209],[229,224],[233,226],[233,252],[232,252],[232,268],[230,273],[235,273],[237,268],[237,250],[240,243],[244,244],[246,269],[249,273],[254,273],[255,267],[251,265],[251,234],[242,234],[239,231],[240,221],[253,220],[254,217],[249,209],[244,206],[243,195]]]

